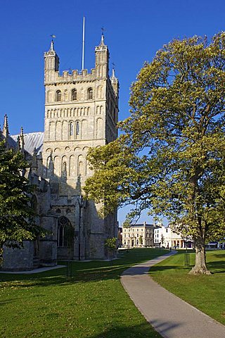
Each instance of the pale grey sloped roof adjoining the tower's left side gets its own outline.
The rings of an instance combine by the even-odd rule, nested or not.
[[[12,135],[11,139],[14,142],[17,142],[19,135]],[[44,132],[29,132],[28,134],[24,134],[24,148],[25,151],[29,154],[34,153],[34,148],[37,150],[37,154],[39,154],[43,149],[44,142]]]

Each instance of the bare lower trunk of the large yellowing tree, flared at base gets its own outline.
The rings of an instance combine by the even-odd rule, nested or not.
[[[205,243],[203,238],[195,240],[195,266],[191,269],[190,275],[210,275],[206,266]]]

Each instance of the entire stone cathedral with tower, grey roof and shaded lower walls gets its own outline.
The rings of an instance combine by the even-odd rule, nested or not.
[[[44,132],[9,136],[5,116],[1,136],[6,146],[20,149],[35,184],[32,204],[37,223],[49,230],[44,238],[24,241],[23,249],[4,248],[4,270],[32,270],[58,260],[103,259],[105,239],[117,237],[117,214],[98,217],[94,201],[84,199],[92,175],[86,154],[91,147],[117,138],[119,82],[109,75],[104,36],[95,48],[95,68],[59,72],[53,41],[44,53]]]

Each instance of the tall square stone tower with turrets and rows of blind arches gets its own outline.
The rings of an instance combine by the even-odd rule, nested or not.
[[[104,242],[117,237],[117,215],[102,220],[98,206],[84,201],[82,187],[91,170],[90,147],[117,137],[119,83],[109,77],[109,51],[101,37],[95,68],[59,73],[53,42],[44,54],[45,123],[43,176],[51,187],[51,211],[58,215],[58,258],[103,258]]]

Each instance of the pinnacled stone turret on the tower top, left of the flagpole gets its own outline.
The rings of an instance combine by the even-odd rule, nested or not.
[[[44,53],[44,83],[55,81],[55,72],[58,72],[59,58],[54,50],[54,42],[51,40],[49,51]]]

